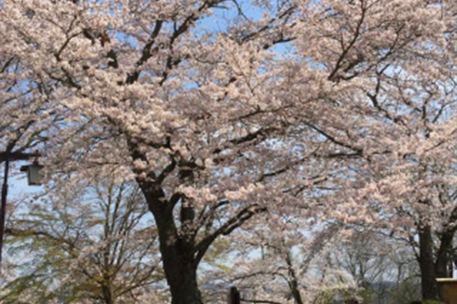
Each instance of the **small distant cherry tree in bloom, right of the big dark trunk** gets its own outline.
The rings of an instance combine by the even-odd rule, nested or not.
[[[321,263],[335,240],[342,237],[341,225],[331,223],[316,228],[318,225],[313,223],[306,229],[306,218],[297,214],[293,218],[268,215],[271,226],[262,225],[261,221],[251,223],[256,227],[248,226],[248,235],[238,240],[239,257],[226,279],[239,287],[247,303],[312,303],[322,288],[343,285],[334,280],[344,276],[343,271]],[[354,281],[346,277],[350,282],[345,283],[351,285]]]

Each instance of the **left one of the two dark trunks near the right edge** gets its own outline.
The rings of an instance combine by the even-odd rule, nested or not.
[[[433,237],[429,225],[418,227],[419,265],[421,267],[421,287],[423,300],[438,300],[435,262],[433,258]]]

